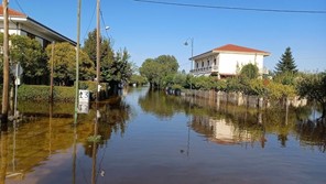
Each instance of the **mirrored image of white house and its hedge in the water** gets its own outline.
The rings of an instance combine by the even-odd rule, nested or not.
[[[325,123],[317,123],[318,126],[312,129],[306,122],[297,121],[297,117],[301,119],[309,117],[312,112],[309,107],[256,109],[209,98],[183,97],[183,99],[198,107],[191,111],[194,115],[192,128],[213,142],[219,144],[260,142],[261,148],[264,148],[268,141],[265,134],[275,133],[281,147],[286,147],[287,136],[295,131],[298,137],[312,138],[313,142],[322,144],[324,151],[319,150],[325,152]],[[296,131],[296,127],[305,128],[306,131]],[[303,136],[307,132],[315,137]]]

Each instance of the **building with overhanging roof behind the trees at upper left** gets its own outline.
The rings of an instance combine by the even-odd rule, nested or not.
[[[54,42],[68,42],[76,45],[76,42],[59,34],[58,32],[29,18],[26,14],[8,9],[9,34],[26,35],[35,39],[43,47]],[[0,32],[3,32],[3,7],[0,6]]]

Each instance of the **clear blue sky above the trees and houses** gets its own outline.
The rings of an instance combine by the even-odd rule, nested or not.
[[[80,43],[96,29],[96,1],[82,0]],[[302,72],[326,71],[326,0],[153,0],[196,4],[172,6],[134,0],[101,0],[101,34],[113,50],[127,48],[130,61],[141,66],[146,58],[173,55],[180,71],[191,68],[194,55],[236,44],[270,52],[264,66],[274,71],[286,47]],[[77,40],[78,0],[10,0],[9,8]],[[286,13],[204,7],[263,10],[323,11]],[[110,26],[108,31],[104,28]]]

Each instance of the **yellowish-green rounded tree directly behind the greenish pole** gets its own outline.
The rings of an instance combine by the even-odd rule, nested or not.
[[[52,44],[47,45],[46,54],[50,58],[47,62],[47,67],[51,68],[52,58]],[[88,80],[95,77],[94,63],[89,59],[88,55],[80,51],[79,59],[79,79]],[[75,47],[67,43],[55,43],[54,44],[54,55],[53,55],[53,66],[54,66],[54,82],[58,85],[69,86],[74,84],[76,79],[76,50]]]

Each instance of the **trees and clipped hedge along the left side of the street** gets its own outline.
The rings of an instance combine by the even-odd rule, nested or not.
[[[13,67],[20,64],[23,73],[20,76],[19,98],[22,100],[48,100],[51,69],[53,66],[54,95],[56,101],[74,101],[73,91],[76,80],[76,50],[67,43],[48,43],[42,46],[35,39],[24,35],[10,35],[11,87],[14,86]],[[0,42],[3,34],[0,33]],[[44,43],[46,44],[46,43]],[[119,86],[128,84],[135,73],[135,66],[130,62],[127,48],[112,50],[111,41],[100,37],[100,83],[102,94],[115,94]],[[2,54],[1,54],[2,55]],[[0,73],[3,73],[2,58]],[[0,75],[2,82],[2,75]],[[96,30],[88,33],[79,53],[79,86],[95,91],[96,80]],[[91,84],[93,83],[93,84]],[[141,82],[142,84],[144,82]],[[85,86],[85,84],[88,84]],[[29,87],[29,85],[32,85]],[[2,85],[1,85],[2,88]],[[59,95],[58,95],[59,94]],[[73,93],[74,94],[74,93]],[[95,94],[95,93],[93,93]]]

